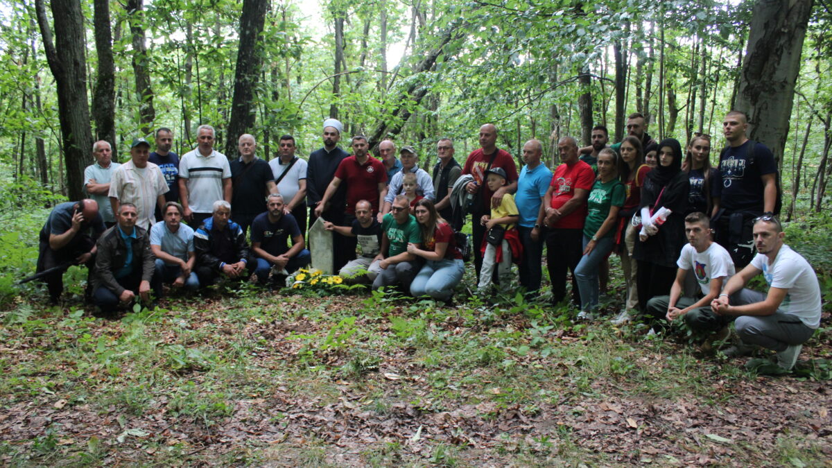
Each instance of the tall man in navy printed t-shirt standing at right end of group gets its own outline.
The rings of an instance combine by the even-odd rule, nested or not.
[[[729,146],[720,155],[719,180],[715,181],[720,203],[715,204],[711,223],[716,242],[726,248],[740,270],[754,256],[754,218],[775,211],[777,163],[768,147],[745,136],[745,113],[728,112],[722,129]]]

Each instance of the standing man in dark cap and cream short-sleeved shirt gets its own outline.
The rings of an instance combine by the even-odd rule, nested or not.
[[[136,224],[148,230],[156,223],[156,207],[161,211],[165,193],[170,190],[161,169],[147,161],[150,152],[151,144],[147,140],[133,140],[131,159],[113,173],[109,193],[113,212],[118,212],[119,203],[132,203],[139,214]]]

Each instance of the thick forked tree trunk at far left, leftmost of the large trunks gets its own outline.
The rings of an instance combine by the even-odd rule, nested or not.
[[[68,197],[82,198],[84,167],[92,148],[90,108],[87,102],[87,57],[84,43],[84,18],[78,0],[52,0],[55,43],[43,0],[35,0],[37,24],[43,49],[57,84],[58,120],[61,122],[62,149],[66,162]]]

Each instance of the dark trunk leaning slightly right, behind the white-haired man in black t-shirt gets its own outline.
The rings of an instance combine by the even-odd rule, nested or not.
[[[240,46],[237,49],[237,69],[234,76],[234,97],[231,100],[231,120],[225,140],[225,154],[237,152],[237,138],[255,126],[254,90],[263,67],[260,37],[265,25],[269,0],[244,0],[240,14]]]

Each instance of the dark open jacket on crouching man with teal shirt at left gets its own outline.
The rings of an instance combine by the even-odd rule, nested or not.
[[[133,243],[133,271],[141,271],[142,281],[151,281],[156,262],[156,256],[151,251],[151,238],[147,231],[136,226],[136,238]],[[92,291],[98,286],[104,286],[116,296],[121,296],[124,286],[118,284],[113,273],[124,265],[127,256],[127,245],[121,238],[118,225],[107,229],[96,243],[96,271],[92,276]]]

